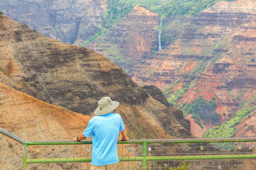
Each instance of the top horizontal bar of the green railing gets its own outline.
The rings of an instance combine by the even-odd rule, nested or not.
[[[256,137],[247,138],[218,138],[218,139],[147,139],[147,140],[119,140],[118,144],[131,144],[131,143],[203,143],[203,142],[256,142]],[[92,144],[92,140],[82,140],[81,142],[75,142],[73,140],[38,140],[28,141],[26,145],[81,145]]]

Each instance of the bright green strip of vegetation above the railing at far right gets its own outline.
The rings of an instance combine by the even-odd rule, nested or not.
[[[255,100],[255,98],[253,99]],[[252,101],[253,101],[252,100]],[[235,114],[235,117],[228,120],[223,125],[215,127],[208,132],[206,132],[206,138],[220,138],[220,137],[234,137],[235,134],[238,132],[235,125],[238,125],[242,120],[245,118],[250,118],[251,114],[255,113],[256,106],[254,106],[251,102],[245,103],[243,108],[240,109]],[[250,130],[250,127],[247,128]]]

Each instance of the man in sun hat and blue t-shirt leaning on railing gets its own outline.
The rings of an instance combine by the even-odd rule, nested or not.
[[[121,116],[111,113],[118,106],[119,102],[112,101],[110,97],[101,98],[94,113],[96,116],[89,121],[85,131],[73,139],[75,141],[85,140],[92,135],[91,170],[117,169],[119,131],[121,131],[122,140],[129,140]]]

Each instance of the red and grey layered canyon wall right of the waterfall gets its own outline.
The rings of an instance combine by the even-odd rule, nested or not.
[[[196,18],[165,18],[166,48],[137,61],[128,74],[139,84],[154,84],[163,91],[178,80],[173,93],[189,88],[180,105],[199,95],[207,101],[215,97],[224,123],[256,93],[255,4],[220,2]],[[197,136],[206,130],[201,132]]]

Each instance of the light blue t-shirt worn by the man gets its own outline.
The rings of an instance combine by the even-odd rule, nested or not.
[[[85,137],[92,135],[92,162],[95,166],[119,162],[117,140],[119,131],[124,130],[122,118],[117,113],[96,115],[82,132]]]

